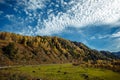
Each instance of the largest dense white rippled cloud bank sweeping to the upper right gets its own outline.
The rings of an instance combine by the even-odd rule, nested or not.
[[[38,29],[38,34],[53,34],[62,31],[67,26],[83,27],[94,23],[111,23],[120,18],[120,0],[81,0],[71,1],[75,4],[66,13],[58,16],[49,15],[44,20],[44,29]],[[39,7],[36,7],[39,8]],[[35,9],[36,9],[35,8]],[[73,15],[71,15],[73,14]],[[37,25],[39,27],[41,25]]]

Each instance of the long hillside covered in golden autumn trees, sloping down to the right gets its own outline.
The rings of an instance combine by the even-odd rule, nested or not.
[[[109,52],[90,49],[81,42],[0,32],[0,66],[113,59],[118,57]]]

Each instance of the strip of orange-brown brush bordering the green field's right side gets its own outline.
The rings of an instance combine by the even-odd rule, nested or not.
[[[84,66],[84,67],[94,67],[94,68],[102,68],[102,69],[110,69],[115,72],[120,72],[120,60],[112,60],[112,61],[107,61],[107,60],[88,60],[87,62],[85,61],[78,61],[76,60],[75,62],[72,63],[73,66]]]

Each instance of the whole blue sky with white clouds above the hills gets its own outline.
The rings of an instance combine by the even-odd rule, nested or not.
[[[120,51],[120,0],[0,0],[0,31],[59,36]]]

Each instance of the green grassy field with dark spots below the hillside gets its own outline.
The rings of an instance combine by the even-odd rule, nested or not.
[[[0,80],[120,80],[120,73],[72,64],[46,64],[1,69]]]

